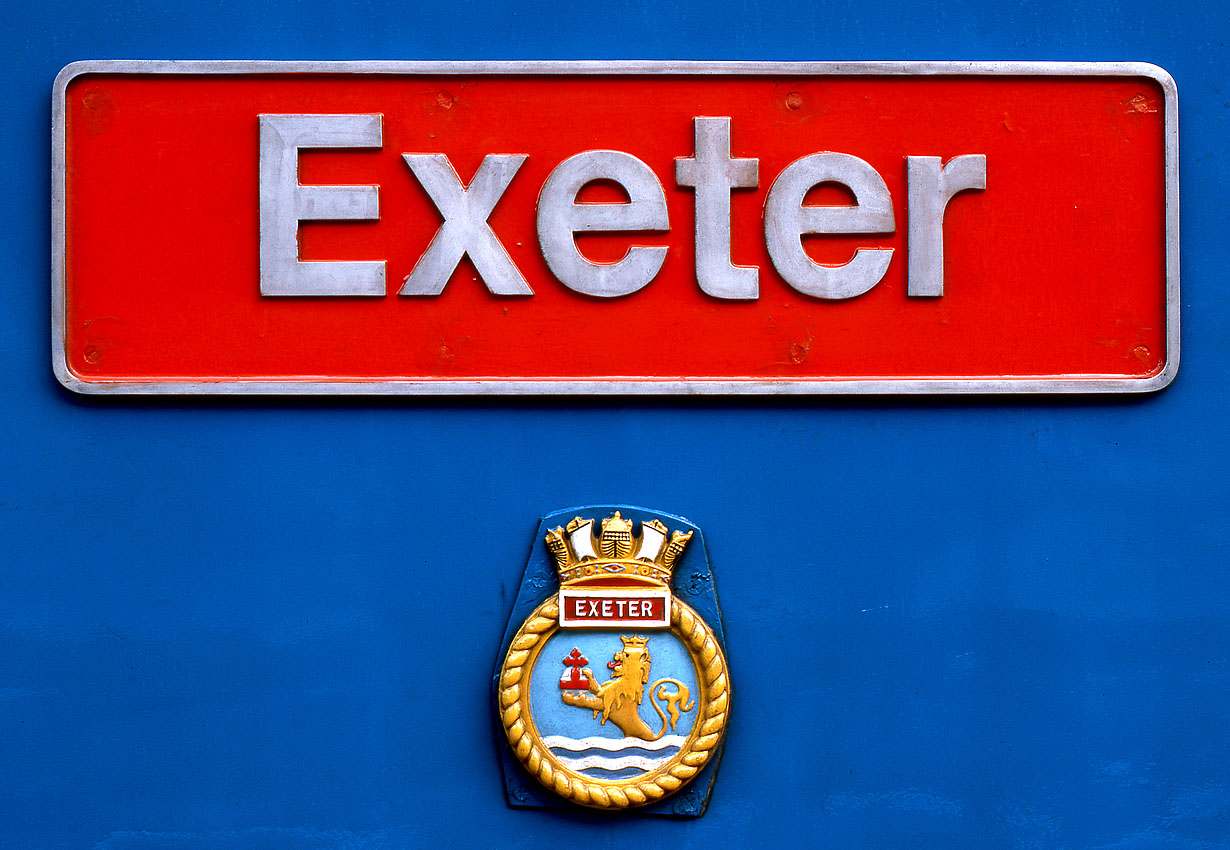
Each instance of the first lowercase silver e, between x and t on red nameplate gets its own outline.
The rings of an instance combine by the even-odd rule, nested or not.
[[[620,183],[629,203],[577,203],[577,192],[595,180]],[[542,257],[560,282],[585,295],[615,298],[654,278],[667,248],[633,245],[615,263],[592,263],[581,256],[573,236],[595,230],[669,230],[667,196],[653,171],[631,154],[588,150],[561,162],[539,194],[538,230]]]

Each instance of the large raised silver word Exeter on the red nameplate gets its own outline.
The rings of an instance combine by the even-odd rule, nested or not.
[[[261,294],[385,295],[383,260],[305,262],[298,229],[306,220],[378,219],[378,186],[304,186],[299,151],[314,148],[380,148],[380,114],[262,114]],[[674,181],[695,192],[696,282],[720,299],[748,300],[760,294],[759,269],[731,262],[731,193],[760,185],[759,159],[732,156],[731,119],[694,118],[695,149],[675,160]],[[525,277],[487,219],[528,159],[525,154],[487,154],[469,186],[445,154],[402,154],[402,159],[444,218],[418,260],[401,295],[439,295],[462,257],[469,256],[496,295],[533,295]],[[986,156],[966,154],[907,156],[908,288],[911,296],[943,294],[943,212],[958,192],[986,188]],[[622,187],[627,202],[581,203],[578,193],[594,182]],[[822,185],[839,185],[854,198],[847,205],[804,204]],[[617,150],[587,150],[563,160],[546,178],[538,198],[538,241],[547,267],[569,289],[597,298],[635,293],[653,280],[667,247],[632,245],[614,263],[588,260],[578,232],[662,232],[669,230],[662,180],[643,161]],[[802,237],[811,234],[892,234],[897,223],[881,175],[850,154],[807,154],[779,173],[764,209],[765,246],[774,268],[796,290],[819,299],[846,299],[883,279],[892,247],[860,247],[840,266],[813,261]]]

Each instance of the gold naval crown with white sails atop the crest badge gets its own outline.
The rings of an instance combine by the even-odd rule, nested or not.
[[[616,510],[601,520],[594,533],[592,518],[577,517],[567,528],[546,533],[546,547],[555,558],[560,584],[645,584],[670,586],[670,573],[683,555],[691,531],[669,533],[662,520],[635,523]],[[609,581],[603,581],[609,579]]]

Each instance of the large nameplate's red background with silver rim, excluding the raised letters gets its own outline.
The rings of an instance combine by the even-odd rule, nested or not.
[[[73,389],[1130,391],[1177,368],[1177,133],[1164,71],[215,65],[228,73],[93,63],[62,75],[53,322]],[[262,298],[262,113],[384,116],[381,149],[300,157],[304,185],[379,185],[379,221],[304,223],[300,240],[303,260],[385,260],[387,295]],[[675,159],[694,155],[696,116],[729,116],[732,155],[760,160],[759,187],[731,202],[732,260],[760,268],[758,300],[696,284],[694,192],[674,180]],[[535,230],[546,177],[593,149],[648,164],[670,216],[669,232],[578,237],[593,261],[669,247],[658,277],[617,299],[557,282]],[[844,301],[791,289],[765,248],[774,178],[817,151],[866,160],[893,198],[892,235],[804,237],[824,263],[895,248],[883,280]],[[403,153],[445,154],[464,182],[485,154],[528,154],[490,221],[533,296],[490,294],[469,260],[442,295],[397,295],[442,221]],[[945,294],[909,298],[905,156],[963,154],[985,154],[986,189],[948,204]],[[604,191],[588,199],[617,199]],[[809,201],[841,203],[825,192]]]

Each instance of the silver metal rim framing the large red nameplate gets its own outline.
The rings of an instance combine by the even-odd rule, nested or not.
[[[1098,375],[907,379],[676,379],[646,380],[216,380],[87,381],[68,368],[65,352],[64,97],[84,74],[396,74],[396,75],[790,75],[790,76],[1144,76],[1165,92],[1166,156],[1166,363],[1149,378]],[[1164,69],[1134,62],[75,62],[59,73],[52,93],[52,365],[59,381],[84,394],[312,394],[312,395],[914,395],[972,392],[1151,392],[1178,370],[1178,91]]]

